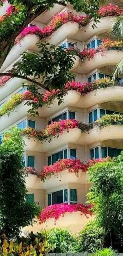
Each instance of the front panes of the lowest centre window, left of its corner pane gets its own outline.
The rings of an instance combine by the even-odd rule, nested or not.
[[[48,206],[57,203],[68,203],[67,188],[48,194]]]

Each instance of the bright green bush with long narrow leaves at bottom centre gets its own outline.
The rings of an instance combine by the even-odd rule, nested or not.
[[[69,229],[56,228],[49,231],[48,242],[52,245],[53,253],[72,253],[77,240]]]

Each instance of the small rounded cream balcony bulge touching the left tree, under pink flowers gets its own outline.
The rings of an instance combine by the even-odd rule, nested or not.
[[[25,177],[26,187],[33,189],[43,189],[42,182],[34,174],[29,174],[28,177]]]

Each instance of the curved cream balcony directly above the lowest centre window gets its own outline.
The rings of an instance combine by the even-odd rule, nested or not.
[[[89,175],[87,173],[83,173],[82,171],[79,171],[79,175],[77,177],[74,173],[69,173],[68,170],[63,170],[57,177],[52,176],[50,179],[46,179],[45,182],[43,182],[42,186],[43,189],[48,189],[51,187],[54,187],[57,185],[64,185],[66,184],[66,181],[68,183],[79,183],[84,184],[89,179]]]

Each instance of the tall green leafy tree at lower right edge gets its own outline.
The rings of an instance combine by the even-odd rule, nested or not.
[[[95,219],[103,236],[100,247],[123,248],[123,165],[122,163],[98,163],[89,168],[93,183],[88,193]]]

